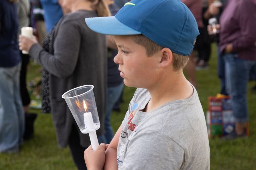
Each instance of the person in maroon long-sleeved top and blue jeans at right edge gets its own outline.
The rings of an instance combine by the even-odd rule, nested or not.
[[[256,62],[256,4],[254,0],[229,0],[220,18],[220,51],[224,55],[226,90],[231,97],[235,131],[224,139],[246,136],[246,89]]]

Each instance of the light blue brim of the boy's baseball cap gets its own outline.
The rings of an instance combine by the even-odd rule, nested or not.
[[[107,35],[137,35],[140,32],[122,24],[116,17],[85,18],[90,29]]]

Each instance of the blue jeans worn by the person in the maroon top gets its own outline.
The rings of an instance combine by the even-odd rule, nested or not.
[[[231,105],[235,122],[248,121],[248,108],[246,100],[247,82],[249,72],[255,61],[240,59],[238,54],[225,54],[226,91],[231,97]]]

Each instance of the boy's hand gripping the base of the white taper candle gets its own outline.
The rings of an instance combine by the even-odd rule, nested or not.
[[[105,150],[108,145],[101,143],[94,151],[90,145],[84,151],[84,161],[88,170],[102,170],[105,163]]]

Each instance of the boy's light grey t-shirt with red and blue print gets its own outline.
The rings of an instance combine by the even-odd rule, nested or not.
[[[196,89],[184,100],[143,112],[150,100],[137,89],[122,122],[118,169],[210,169],[210,148]]]

